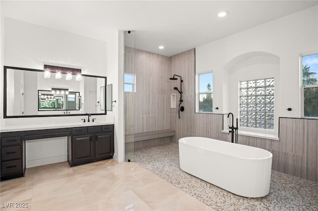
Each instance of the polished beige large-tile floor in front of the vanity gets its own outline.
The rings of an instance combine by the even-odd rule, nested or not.
[[[213,211],[139,164],[114,159],[28,168],[1,181],[0,193],[1,211]]]

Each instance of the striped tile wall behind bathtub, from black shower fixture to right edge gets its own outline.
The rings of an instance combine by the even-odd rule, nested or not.
[[[186,136],[201,136],[230,141],[222,133],[222,114],[195,113],[195,56],[194,50],[171,56],[171,74],[182,76],[184,112],[178,119],[177,109],[170,108],[170,127],[176,136],[170,141]],[[179,81],[170,82],[173,93]],[[177,94],[177,96],[179,96]],[[279,119],[279,141],[239,135],[239,144],[265,149],[273,154],[272,169],[318,182],[318,120],[300,118]]]

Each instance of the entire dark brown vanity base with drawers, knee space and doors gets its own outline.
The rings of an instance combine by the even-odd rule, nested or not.
[[[114,125],[1,132],[0,180],[23,176],[25,141],[68,137],[70,166],[113,158]]]

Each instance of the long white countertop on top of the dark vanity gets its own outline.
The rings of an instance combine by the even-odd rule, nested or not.
[[[30,124],[30,125],[16,125],[16,126],[4,126],[0,128],[0,132],[14,132],[14,131],[26,131],[26,130],[45,130],[45,129],[57,129],[57,128],[69,128],[69,127],[85,127],[96,125],[109,125],[113,122],[67,122],[67,123],[53,123],[53,124]]]

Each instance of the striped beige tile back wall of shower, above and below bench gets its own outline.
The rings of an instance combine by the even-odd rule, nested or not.
[[[170,60],[168,56],[125,47],[125,73],[136,75],[136,92],[125,92],[125,134],[170,128]],[[148,146],[164,142],[169,138],[148,141]]]

